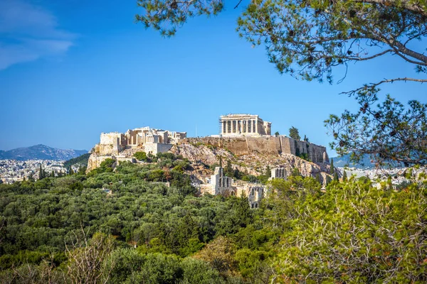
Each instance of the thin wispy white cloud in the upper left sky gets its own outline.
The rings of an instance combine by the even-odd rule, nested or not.
[[[25,0],[0,1],[0,70],[20,62],[58,56],[75,35],[58,28],[56,17]]]

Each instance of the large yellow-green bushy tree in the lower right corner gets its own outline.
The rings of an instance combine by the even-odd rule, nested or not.
[[[394,192],[334,182],[325,194],[295,203],[294,225],[286,223],[291,228],[275,261],[283,282],[425,282],[425,188]]]

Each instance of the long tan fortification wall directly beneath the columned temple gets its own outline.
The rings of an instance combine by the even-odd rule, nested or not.
[[[308,158],[315,163],[329,163],[326,148],[305,141],[296,141],[287,136],[239,136],[239,137],[201,137],[185,138],[179,143],[204,143],[207,145],[221,146],[236,155],[260,153],[292,155],[307,153]]]

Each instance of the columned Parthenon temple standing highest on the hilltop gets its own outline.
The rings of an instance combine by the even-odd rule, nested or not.
[[[271,135],[271,122],[253,114],[228,114],[220,117],[221,136]]]

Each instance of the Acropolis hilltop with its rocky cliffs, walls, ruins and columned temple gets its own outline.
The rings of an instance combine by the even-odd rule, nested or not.
[[[156,155],[169,151],[205,165],[218,163],[221,156],[223,160],[231,160],[233,168],[252,175],[260,175],[267,165],[285,168],[288,173],[292,168],[298,168],[302,175],[314,177],[319,174],[322,180],[329,173],[329,158],[324,146],[283,135],[271,136],[271,123],[258,115],[221,116],[220,126],[219,134],[203,138],[187,138],[186,132],[149,127],[126,133],[102,133],[100,143],[91,152],[88,172],[106,158],[137,163],[133,158],[136,152]],[[307,160],[297,157],[304,153]]]

